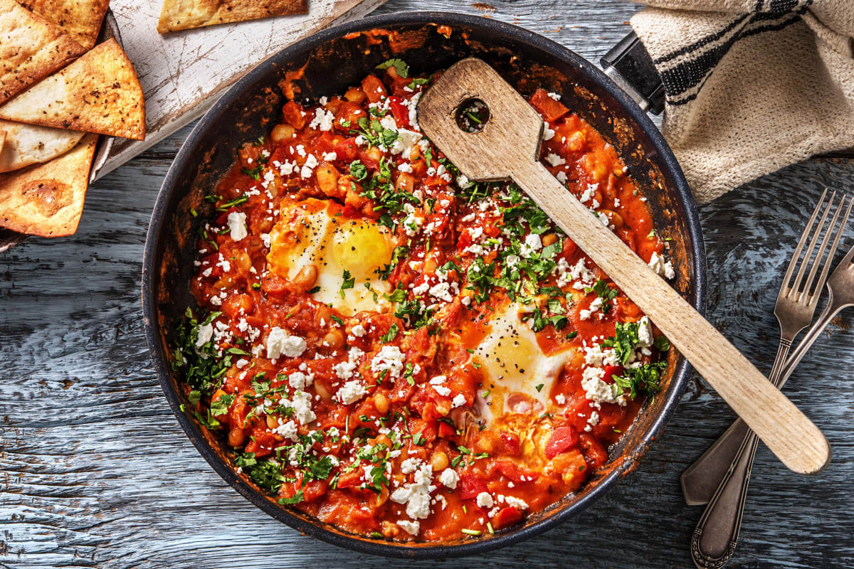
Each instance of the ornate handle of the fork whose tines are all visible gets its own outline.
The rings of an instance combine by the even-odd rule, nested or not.
[[[774,367],[769,374],[772,383],[780,379],[783,364],[791,348],[791,341],[780,341]],[[691,537],[691,557],[700,569],[720,569],[735,552],[758,441],[752,431],[748,433],[715,495],[706,506],[703,516],[697,522]]]

